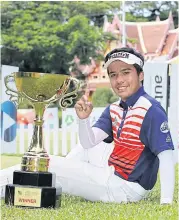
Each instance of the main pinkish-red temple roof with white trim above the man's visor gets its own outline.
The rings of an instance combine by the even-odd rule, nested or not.
[[[104,21],[103,30],[122,37],[123,22],[118,15],[114,15],[112,22]],[[140,51],[146,59],[154,59],[158,56],[168,55],[168,59],[176,56],[178,50],[177,34],[179,28],[174,28],[172,13],[168,19],[160,21],[157,16],[156,21],[150,22],[125,22],[126,37],[135,39],[135,43],[127,42],[127,46]],[[121,43],[116,46],[122,46]],[[113,49],[113,48],[110,48]]]

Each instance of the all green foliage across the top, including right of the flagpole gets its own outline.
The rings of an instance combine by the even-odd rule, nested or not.
[[[177,8],[177,1],[126,1],[126,20],[163,20],[172,11],[177,25]],[[104,16],[111,21],[121,12],[120,1],[1,2],[1,62],[21,71],[68,74],[75,55],[82,64],[102,60],[106,42],[114,39],[103,32]]]

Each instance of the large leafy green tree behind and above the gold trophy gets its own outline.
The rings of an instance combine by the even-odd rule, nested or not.
[[[75,55],[81,63],[90,62],[89,57],[102,59],[100,51],[105,49],[106,40],[114,37],[91,24],[89,5],[3,2],[2,63],[17,65],[22,71],[68,73],[69,63]],[[94,3],[91,7],[96,10]],[[102,7],[106,7],[102,10],[105,13],[112,6],[107,7],[105,3]],[[93,20],[98,13],[94,14]]]

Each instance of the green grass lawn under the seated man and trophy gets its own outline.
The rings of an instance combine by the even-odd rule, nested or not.
[[[2,168],[17,164],[17,156],[2,156]],[[62,195],[61,208],[28,209],[9,207],[2,201],[1,218],[14,220],[177,220],[178,219],[178,165],[174,203],[160,205],[160,183],[157,181],[148,199],[138,203],[111,204],[88,202],[82,198]]]

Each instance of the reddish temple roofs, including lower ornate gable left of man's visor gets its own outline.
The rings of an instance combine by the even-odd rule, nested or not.
[[[122,47],[121,37],[123,33],[123,22],[118,15],[114,15],[112,22],[109,22],[105,16],[103,31],[113,33],[117,39],[115,41],[106,42],[107,50]],[[179,28],[174,27],[172,13],[166,20],[161,21],[157,16],[155,21],[149,22],[125,22],[126,30],[126,46],[132,47],[141,52],[145,60],[170,61],[178,57],[178,33]],[[131,39],[133,42],[131,42]],[[77,58],[76,58],[77,59]],[[77,66],[82,74],[88,76],[89,81],[105,80],[105,73],[102,69],[102,62],[96,63],[93,58],[91,65],[80,65],[78,60]],[[95,78],[96,80],[95,80]],[[91,83],[92,83],[91,81]]]

